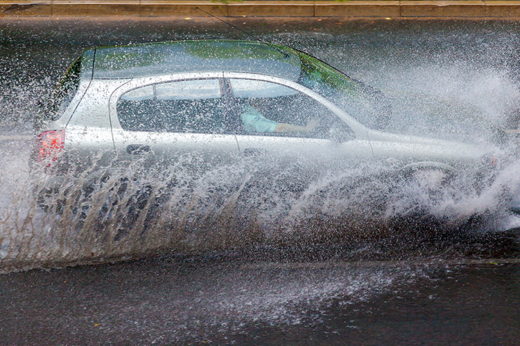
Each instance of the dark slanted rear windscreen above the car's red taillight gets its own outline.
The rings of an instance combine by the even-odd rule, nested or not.
[[[81,57],[69,67],[53,91],[51,101],[44,107],[46,120],[58,120],[69,107],[80,85]]]

